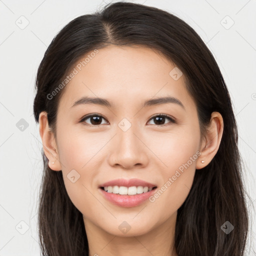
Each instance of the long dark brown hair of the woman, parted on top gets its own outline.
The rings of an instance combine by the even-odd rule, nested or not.
[[[203,169],[196,169],[190,192],[177,211],[175,247],[180,256],[242,256],[248,232],[242,160],[231,100],[218,65],[198,34],[167,11],[138,3],[115,2],[102,10],[71,20],[53,38],[38,67],[34,117],[47,112],[55,133],[62,88],[49,99],[72,65],[93,49],[109,44],[139,45],[161,52],[186,77],[196,103],[201,135],[211,112],[223,117],[219,149]],[[88,255],[82,213],[66,192],[62,171],[52,171],[42,151],[44,168],[38,208],[39,241],[43,256]],[[222,224],[234,230],[226,234]]]

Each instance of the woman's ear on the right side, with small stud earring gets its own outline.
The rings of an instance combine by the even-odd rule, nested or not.
[[[207,134],[201,143],[200,156],[196,162],[196,169],[205,167],[217,153],[223,133],[223,118],[219,112],[212,112]],[[204,161],[204,163],[201,162]]]

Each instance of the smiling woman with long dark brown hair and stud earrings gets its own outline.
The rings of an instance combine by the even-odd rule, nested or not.
[[[116,2],[70,21],[38,68],[43,255],[244,255],[229,93],[178,17]]]

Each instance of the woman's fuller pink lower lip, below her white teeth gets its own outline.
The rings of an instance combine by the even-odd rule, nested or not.
[[[141,194],[134,194],[134,195],[122,195],[122,194],[114,194],[114,193],[108,193],[105,190],[99,188],[103,196],[113,204],[122,206],[122,207],[134,207],[138,206],[142,202],[144,202],[146,199],[148,199],[149,196],[151,196],[155,189],[152,189],[151,191],[147,191],[145,193]]]

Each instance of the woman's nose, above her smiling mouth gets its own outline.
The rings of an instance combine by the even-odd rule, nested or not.
[[[125,169],[142,168],[148,164],[148,148],[142,135],[133,126],[123,131],[117,127],[116,135],[111,139],[108,163]]]

